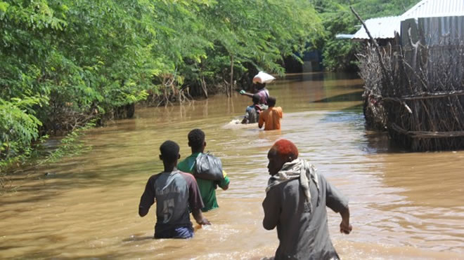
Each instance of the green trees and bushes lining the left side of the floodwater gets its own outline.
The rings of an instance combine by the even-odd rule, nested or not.
[[[283,73],[321,32],[307,0],[0,0],[0,159],[148,95]]]

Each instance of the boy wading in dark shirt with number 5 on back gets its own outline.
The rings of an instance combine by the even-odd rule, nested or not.
[[[179,145],[166,141],[160,146],[160,159],[165,170],[153,175],[140,198],[138,214],[144,217],[156,200],[155,238],[192,238],[193,226],[189,210],[200,225],[209,225],[203,217],[203,203],[195,178],[176,169]]]

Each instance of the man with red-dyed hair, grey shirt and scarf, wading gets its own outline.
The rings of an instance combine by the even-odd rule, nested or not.
[[[339,259],[328,233],[326,206],[340,213],[340,232],[349,234],[348,200],[313,165],[298,159],[292,142],[278,140],[267,158],[271,178],[263,201],[263,226],[277,226],[276,259]]]

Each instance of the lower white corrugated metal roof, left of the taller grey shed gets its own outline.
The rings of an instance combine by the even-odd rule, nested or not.
[[[370,35],[372,35],[374,39],[392,39],[394,38],[394,32],[399,32],[401,27],[401,17],[388,16],[372,18],[366,20],[365,23]],[[352,36],[352,39],[369,39],[369,36],[364,27],[361,27],[361,29]]]

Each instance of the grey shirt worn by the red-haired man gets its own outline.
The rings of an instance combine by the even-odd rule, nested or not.
[[[335,212],[348,207],[348,200],[340,191],[318,175],[321,200],[317,205],[316,185],[310,185],[312,213],[305,210],[305,196],[299,179],[273,186],[263,201],[263,226],[271,230],[277,226],[279,246],[276,259],[338,259],[330,241],[326,206]]]

